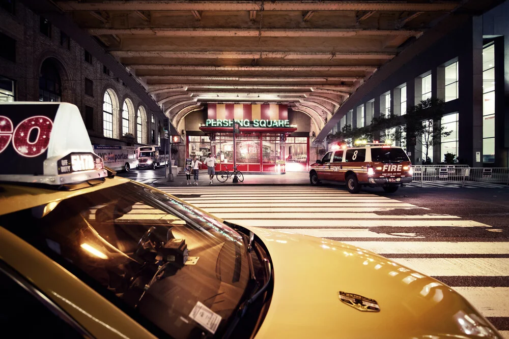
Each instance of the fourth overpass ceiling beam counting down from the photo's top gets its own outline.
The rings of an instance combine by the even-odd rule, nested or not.
[[[167,70],[167,71],[235,71],[235,72],[334,72],[360,71],[375,72],[374,66],[194,66],[194,65],[129,65],[132,70]]]

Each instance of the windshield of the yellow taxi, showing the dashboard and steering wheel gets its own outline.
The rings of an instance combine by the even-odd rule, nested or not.
[[[239,233],[135,182],[2,215],[2,226],[158,337],[220,333],[248,290]],[[197,305],[220,317],[217,327],[193,320]]]

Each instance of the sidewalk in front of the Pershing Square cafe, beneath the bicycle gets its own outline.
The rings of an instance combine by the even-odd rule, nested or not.
[[[199,186],[243,186],[243,185],[308,185],[309,184],[309,173],[307,172],[287,172],[286,174],[245,174],[244,181],[233,183],[233,177],[229,178],[226,182],[218,182],[216,176],[212,180],[213,184],[209,185],[209,176],[207,171],[200,171],[198,185]],[[174,181],[166,181],[166,178],[160,178],[153,182],[154,186],[186,186],[185,175],[175,175]],[[194,179],[191,175],[191,182]]]

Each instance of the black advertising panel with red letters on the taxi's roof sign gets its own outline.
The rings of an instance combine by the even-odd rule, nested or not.
[[[43,163],[59,106],[0,106],[0,174],[44,174]]]

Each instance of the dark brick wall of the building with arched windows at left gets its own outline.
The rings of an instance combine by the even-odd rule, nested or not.
[[[92,55],[92,64],[84,58],[84,49],[70,39],[70,46],[61,46],[61,31],[51,25],[50,37],[40,32],[40,16],[27,9],[23,4],[15,2],[14,13],[11,14],[0,8],[0,33],[16,41],[16,61],[12,62],[0,57],[0,76],[15,81],[16,101],[39,100],[39,74],[44,60],[51,58],[59,70],[62,79],[62,101],[75,104],[81,111],[84,119],[85,106],[94,110],[93,128],[89,134],[93,143],[122,145],[126,144],[122,135],[122,105],[126,98],[132,102],[134,110],[130,112],[130,129],[136,142],[136,116],[138,108],[144,107],[146,121],[143,122],[142,133],[145,143],[150,144],[150,131],[156,131],[158,121],[163,115],[159,112],[147,110],[147,104],[142,102],[133,92],[123,85],[121,81],[110,72],[103,73],[103,65]],[[0,46],[0,48],[3,48]],[[85,78],[93,81],[93,96],[85,94]],[[117,123],[117,138],[110,139],[103,136],[103,96],[106,89],[111,89],[118,98],[114,103],[114,123]],[[115,97],[115,96],[114,96]],[[112,97],[115,101],[115,98]],[[154,124],[151,123],[151,114],[154,113]],[[143,115],[142,115],[143,116]],[[115,127],[114,127],[115,129]]]

